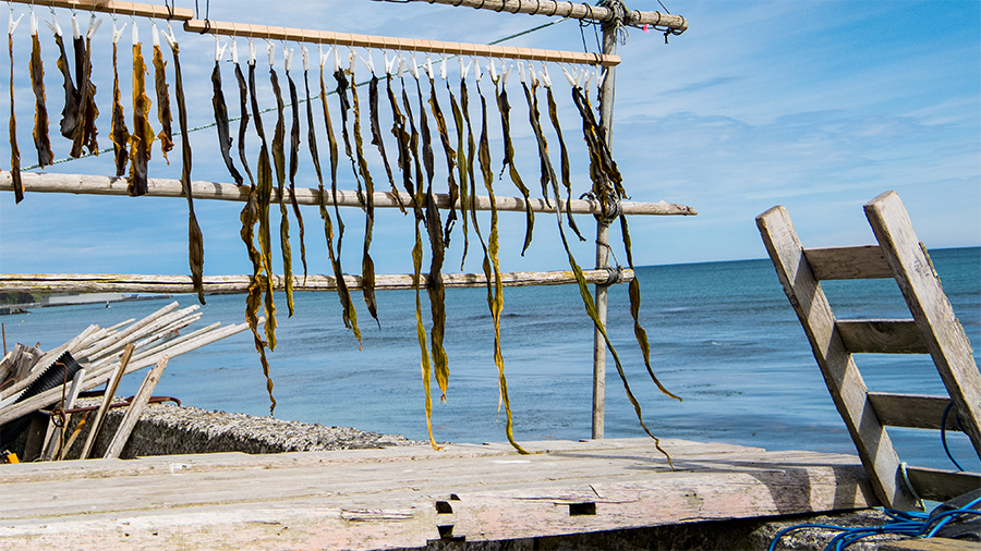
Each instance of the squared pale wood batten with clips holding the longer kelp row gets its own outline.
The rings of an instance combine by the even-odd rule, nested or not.
[[[483,44],[444,42],[439,40],[419,40],[415,38],[396,38],[390,36],[354,35],[351,33],[335,33],[331,30],[274,27],[268,25],[251,25],[247,23],[232,23],[225,21],[190,20],[184,22],[184,30],[189,33],[240,36],[243,38],[250,37],[308,44],[332,44],[355,48],[375,48],[378,50],[424,51],[444,56],[476,56],[481,58],[506,58],[589,65],[617,65],[620,63],[619,56],[603,56],[600,53],[541,50],[535,48],[517,48],[513,46],[488,46]]]

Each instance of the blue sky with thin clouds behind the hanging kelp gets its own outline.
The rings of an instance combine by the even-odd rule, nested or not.
[[[498,14],[425,2],[281,2],[275,10],[269,9],[268,2],[257,0],[209,3],[208,15],[215,21],[482,44],[549,21],[545,16]],[[189,1],[177,4],[193,8]],[[888,189],[899,194],[920,241],[928,247],[981,244],[981,3],[671,0],[665,4],[671,13],[683,15],[690,27],[685,34],[670,37],[667,45],[662,34],[630,29],[626,44],[619,46],[622,63],[616,73],[611,148],[633,200],[688,205],[699,215],[631,218],[637,265],[763,258],[766,253],[754,218],[775,205],[788,208],[804,246],[873,243],[862,205]],[[633,1],[628,7],[659,9],[657,2],[650,1]],[[26,13],[28,8],[16,4],[12,10],[16,16]],[[41,19],[50,20],[48,10],[36,10]],[[57,13],[68,28],[70,12],[58,10]],[[106,14],[101,17],[102,27],[95,39],[93,78],[98,86],[96,98],[101,110],[97,122],[99,138],[106,147],[110,145],[112,21]],[[31,137],[34,98],[27,77],[31,42],[26,20],[25,16],[15,34],[13,68],[23,167],[33,164],[34,160]],[[149,58],[150,22],[145,19],[136,22],[145,42],[144,54]],[[118,23],[132,22],[129,16],[119,16]],[[41,29],[45,84],[52,119],[50,134],[56,158],[62,158],[70,144],[57,133],[62,90],[55,68],[56,48],[50,33],[44,26]],[[207,124],[214,120],[209,81],[214,38],[180,29],[175,33],[181,42],[189,123],[192,127]],[[131,90],[129,37],[128,27],[120,42],[124,99]],[[506,44],[573,51],[582,51],[585,46],[595,51],[597,32],[566,21]],[[244,58],[246,41],[239,39],[238,46]],[[257,46],[264,53],[264,44]],[[299,45],[288,46],[298,49],[299,58]],[[277,71],[286,87],[282,45],[278,47]],[[359,53],[367,54],[364,50]],[[380,66],[380,52],[374,51],[372,56]],[[5,79],[10,63],[5,56],[0,59],[0,72]],[[165,59],[173,95],[173,64],[169,52]],[[229,59],[228,53],[225,59]],[[416,59],[422,62],[424,57],[420,54]],[[458,78],[459,65],[453,62],[449,66],[450,77]],[[263,54],[258,75],[259,103],[264,108],[275,106],[267,69]],[[221,70],[229,110],[235,115],[233,68],[223,62]],[[581,120],[560,69],[550,65],[549,71],[556,83],[565,139],[572,155],[574,189],[581,194],[590,187]],[[302,90],[302,72],[294,69],[293,76]],[[362,82],[368,72],[359,65],[356,76]],[[311,87],[317,89],[315,71],[311,77]],[[469,85],[471,113],[476,122],[480,102],[472,73]],[[485,79],[484,85],[487,94],[489,83]],[[511,81],[509,90],[517,162],[534,192],[538,180],[537,155],[528,124],[528,108],[517,79]],[[360,91],[366,99],[366,87]],[[440,94],[444,109],[448,110],[446,90],[440,89]],[[154,98],[150,90],[148,95]],[[0,111],[9,113],[9,97],[2,96]],[[493,93],[489,97],[492,157],[499,170],[499,115],[494,109]],[[330,97],[330,107],[337,124],[336,96]],[[156,107],[153,110],[156,112]],[[383,108],[383,130],[390,137],[387,111]],[[130,105],[126,112],[132,112]],[[320,159],[326,162],[326,139],[318,110],[315,117],[320,125]],[[159,130],[155,118],[152,117],[150,123]],[[264,123],[269,132],[275,113],[266,114]],[[302,134],[296,185],[315,187],[316,177],[306,151],[305,119]],[[555,138],[548,136],[554,152]],[[366,156],[377,186],[387,188],[384,169],[370,138],[365,138]],[[441,167],[444,159],[435,133],[433,138],[436,164]],[[10,148],[5,138],[2,142],[0,168],[7,169]],[[191,144],[194,180],[231,182],[218,155],[215,128],[192,133]],[[246,145],[254,169],[258,148],[254,134],[246,138]],[[170,154],[169,166],[156,147],[150,176],[179,177],[180,142]],[[395,144],[389,142],[387,147],[393,157]],[[446,189],[443,170],[437,171],[438,193]],[[111,155],[57,164],[46,172],[108,175],[112,173]],[[340,187],[353,188],[350,167],[342,162],[339,173]],[[495,183],[495,192],[518,195],[507,176]],[[535,193],[540,194],[540,191]],[[205,274],[250,273],[251,265],[239,237],[241,204],[201,200],[195,208],[204,233]],[[305,207],[303,215],[310,272],[330,273],[317,209]],[[346,271],[356,273],[361,266],[364,218],[359,209],[346,209],[342,215],[348,226],[342,260]],[[274,224],[277,218],[274,217]],[[28,188],[26,199],[14,205],[12,193],[0,193],[0,271],[185,274],[189,273],[186,221],[184,199],[32,194]],[[291,224],[294,261],[299,266],[296,221],[291,220]],[[590,266],[595,254],[594,223],[589,217],[580,217],[579,224],[585,229],[589,240],[574,244],[573,253],[581,265]],[[411,217],[396,210],[377,213],[372,250],[378,273],[411,271],[412,228]],[[447,271],[461,268],[459,230],[458,225],[447,253]],[[504,271],[561,270],[568,266],[554,217],[538,215],[534,241],[524,257],[520,255],[523,232],[523,215],[501,215]],[[619,230],[615,229],[611,236],[614,255],[626,262]],[[477,246],[471,243],[462,268],[480,271],[479,262]]]

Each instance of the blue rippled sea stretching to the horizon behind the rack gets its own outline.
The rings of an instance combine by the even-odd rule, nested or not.
[[[941,249],[931,256],[956,315],[978,346],[981,248]],[[633,341],[623,285],[610,291],[608,326],[655,434],[768,450],[855,452],[768,260],[644,267],[638,277],[644,290],[642,323],[651,336],[654,370],[683,403],[661,394],[646,375]],[[838,318],[909,317],[893,281],[826,282],[823,286]],[[380,330],[368,322],[359,301],[363,351],[341,323],[336,295],[296,296],[296,315],[279,319],[279,343],[269,355],[277,417],[424,440],[414,294],[378,293]],[[196,302],[190,295],[177,299],[182,306]],[[146,316],[165,304],[39,308],[0,321],[5,325],[8,345],[40,342],[50,348],[88,323],[108,327]],[[278,304],[284,305],[284,297]],[[210,296],[196,326],[241,322],[243,309],[241,295]],[[447,318],[450,383],[446,403],[434,395],[436,438],[504,441],[484,291],[447,293]],[[519,440],[590,437],[592,334],[576,286],[505,290],[501,336]],[[208,409],[268,415],[265,379],[251,339],[249,332],[241,333],[174,358],[156,393]],[[974,357],[977,362],[977,352]],[[857,364],[871,390],[944,392],[929,356],[861,355]],[[142,374],[128,377],[121,392],[134,393],[141,380]],[[608,438],[643,436],[611,358],[606,404]],[[910,464],[950,466],[938,432],[889,432],[900,457]],[[966,437],[948,434],[948,442],[965,468],[981,470]]]

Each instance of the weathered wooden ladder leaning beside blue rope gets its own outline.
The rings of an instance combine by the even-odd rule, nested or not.
[[[909,511],[922,506],[911,489],[947,501],[981,488],[981,475],[907,466],[884,427],[940,430],[953,401],[946,430],[958,430],[959,416],[981,456],[981,374],[899,196],[886,192],[864,210],[879,245],[806,249],[782,206],[756,217],[756,225],[876,495],[887,507]],[[885,278],[899,284],[911,320],[836,320],[819,283]],[[853,353],[929,353],[948,396],[869,392]]]

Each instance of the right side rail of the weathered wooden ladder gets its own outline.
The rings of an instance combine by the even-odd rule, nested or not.
[[[899,196],[886,192],[865,204],[864,210],[960,415],[965,432],[981,455],[981,371],[974,363],[971,343],[917,240]]]

